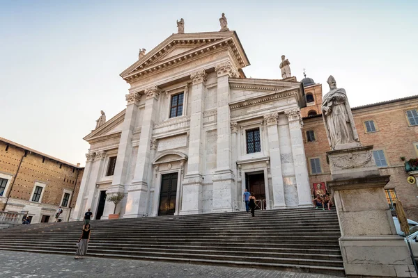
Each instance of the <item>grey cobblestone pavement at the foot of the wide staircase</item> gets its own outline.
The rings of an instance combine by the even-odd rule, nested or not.
[[[11,252],[0,250],[0,277],[134,277],[134,278],[330,278],[301,272],[231,268],[216,265],[167,263],[163,261],[138,261]]]

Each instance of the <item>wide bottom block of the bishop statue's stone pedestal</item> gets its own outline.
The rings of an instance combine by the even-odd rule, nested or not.
[[[339,243],[348,277],[417,277],[400,236],[343,236]]]

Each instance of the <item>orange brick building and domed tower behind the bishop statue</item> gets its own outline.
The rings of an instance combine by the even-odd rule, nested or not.
[[[307,78],[302,83],[307,95],[307,107],[301,109],[304,147],[313,190],[314,183],[326,184],[331,180],[325,154],[330,151],[330,145],[320,111],[322,85]],[[313,96],[312,100],[308,99],[309,93]],[[373,156],[380,167],[380,174],[391,176],[385,186],[389,206],[393,208],[392,203],[398,198],[412,220],[418,220],[418,187],[408,183],[409,174],[405,172],[405,162],[401,157],[406,161],[418,157],[417,108],[417,95],[352,108],[360,142],[364,146],[373,145]]]

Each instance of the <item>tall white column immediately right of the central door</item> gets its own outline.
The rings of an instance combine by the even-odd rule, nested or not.
[[[189,131],[189,158],[187,160],[187,174],[183,180],[183,196],[180,214],[202,213],[203,198],[203,110],[205,94],[205,70],[191,74],[192,91],[189,92],[191,100],[190,131]],[[187,104],[186,104],[187,105]]]

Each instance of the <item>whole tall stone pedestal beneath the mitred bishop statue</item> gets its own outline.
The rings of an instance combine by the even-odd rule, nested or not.
[[[417,277],[408,246],[396,235],[373,146],[327,152],[348,277]]]

